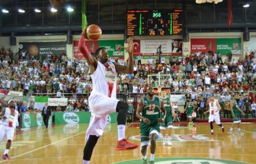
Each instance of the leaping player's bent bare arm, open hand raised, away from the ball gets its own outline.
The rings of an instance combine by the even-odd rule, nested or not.
[[[121,66],[117,63],[114,63],[116,72],[121,73],[121,74],[132,74],[133,73],[133,40],[132,38],[127,39],[128,46],[127,47],[122,47],[126,52],[129,54],[129,61],[127,66]]]

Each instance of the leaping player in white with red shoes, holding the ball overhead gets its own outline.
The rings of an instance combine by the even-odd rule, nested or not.
[[[108,52],[104,47],[96,50],[95,57],[91,56],[90,52],[85,48],[85,35],[86,30],[80,36],[78,48],[90,66],[89,70],[93,84],[92,92],[88,99],[92,117],[86,132],[87,142],[83,156],[83,164],[89,164],[94,146],[98,138],[103,134],[107,115],[110,113],[118,112],[118,142],[116,150],[132,150],[138,148],[138,144],[132,144],[125,139],[124,132],[128,104],[116,99],[117,72],[122,74],[133,73],[133,40],[132,38],[127,39],[128,47],[124,49],[128,52],[130,60],[127,66],[121,66],[116,62],[108,62]]]

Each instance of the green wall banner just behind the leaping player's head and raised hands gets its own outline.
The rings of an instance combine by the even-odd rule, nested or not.
[[[99,40],[98,46],[105,47],[109,57],[124,57],[124,40]]]

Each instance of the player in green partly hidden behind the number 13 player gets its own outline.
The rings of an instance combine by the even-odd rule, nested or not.
[[[164,138],[163,141],[163,145],[166,145],[166,138],[165,138],[165,130],[167,128],[167,134],[168,134],[168,138],[167,138],[167,144],[169,146],[172,146],[172,142],[171,142],[171,135],[172,135],[172,116],[176,117],[176,114],[174,113],[174,110],[171,108],[171,102],[170,102],[170,98],[166,97],[166,91],[162,90],[161,91],[161,100],[164,103],[164,107],[166,110],[166,118],[164,119],[163,123],[160,123],[160,129]],[[162,116],[162,112],[160,112],[160,117]]]

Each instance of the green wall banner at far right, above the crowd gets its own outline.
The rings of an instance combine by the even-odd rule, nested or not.
[[[222,55],[232,52],[233,55],[241,55],[241,38],[217,38],[216,51]]]

